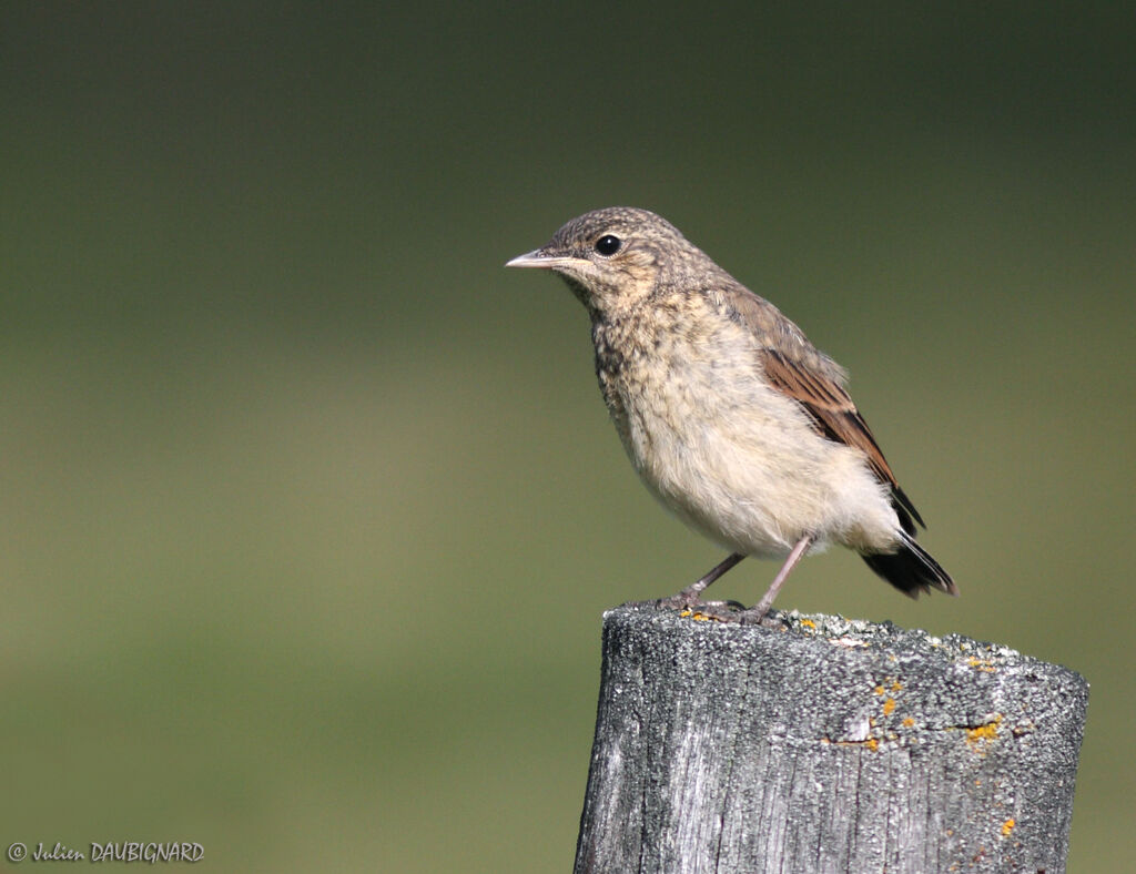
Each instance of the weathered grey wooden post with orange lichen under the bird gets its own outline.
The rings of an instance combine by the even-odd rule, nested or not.
[[[1064,871],[1088,703],[1006,647],[609,611],[576,872]]]

